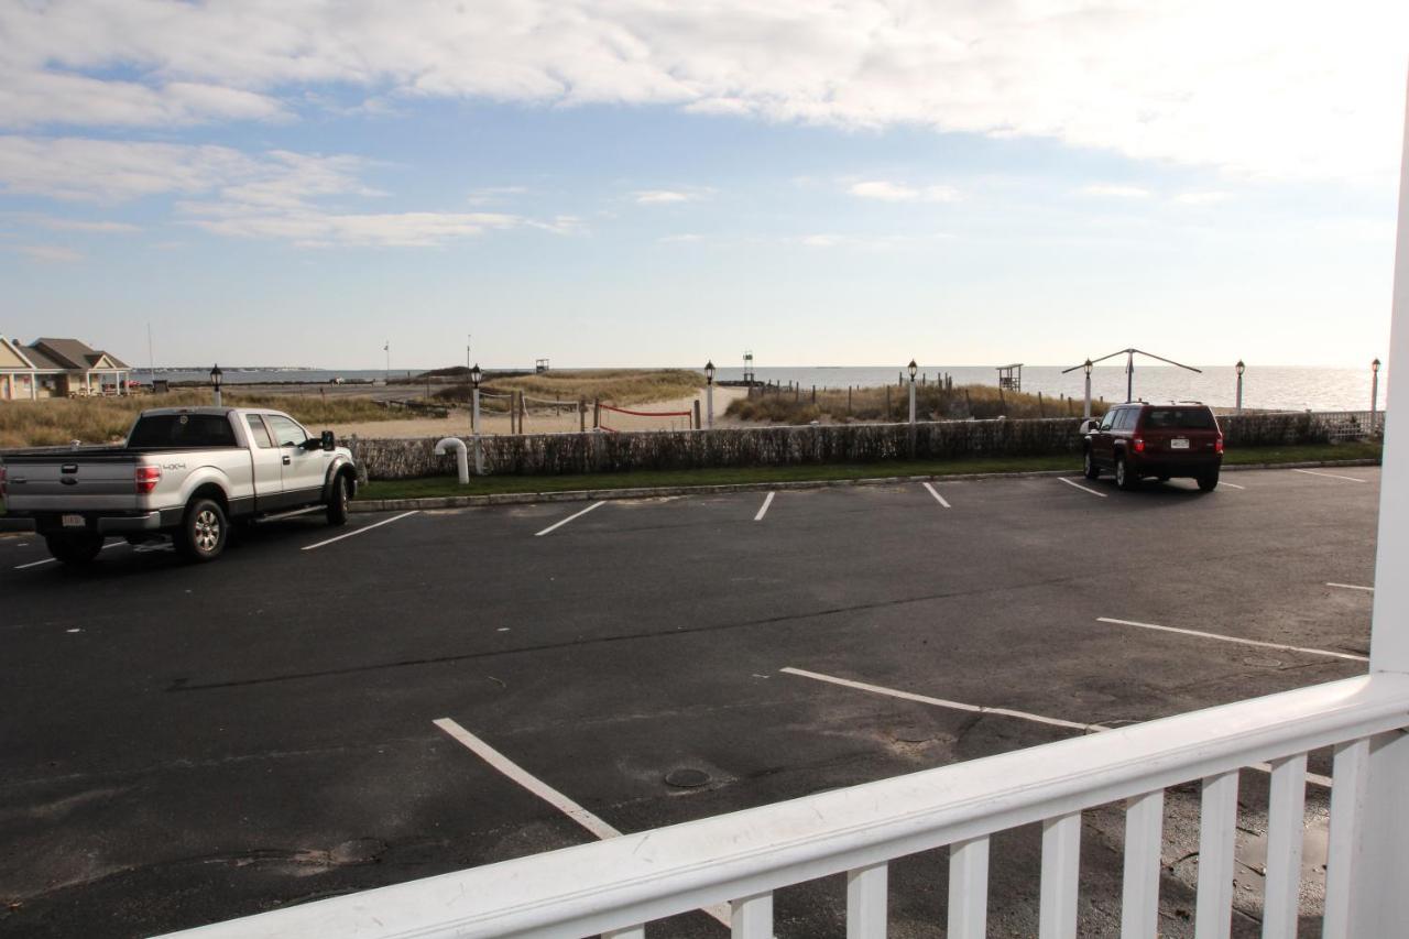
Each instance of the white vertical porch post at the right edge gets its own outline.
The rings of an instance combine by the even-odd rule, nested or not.
[[[1399,171],[1399,231],[1389,361],[1409,375],[1409,92],[1405,149]],[[1389,417],[1399,415],[1398,430]],[[1370,627],[1370,670],[1409,673],[1409,378],[1391,382],[1385,398],[1385,450],[1379,486],[1375,612]],[[1360,850],[1351,871],[1353,936],[1392,936],[1409,922],[1409,736],[1377,737],[1370,753]]]

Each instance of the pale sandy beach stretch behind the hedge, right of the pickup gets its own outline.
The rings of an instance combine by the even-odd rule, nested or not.
[[[716,388],[714,389],[714,426],[733,427],[740,422],[724,417],[724,410],[730,402],[747,398],[745,388]],[[648,405],[631,405],[627,410],[637,412],[688,412],[693,415],[695,402],[700,403],[700,415],[704,413],[704,389],[686,398],[672,398],[657,400]],[[509,415],[480,412],[482,433],[507,434],[510,431]],[[693,417],[638,417],[617,412],[603,410],[602,423],[613,430],[686,430],[692,426]],[[588,429],[592,427],[592,410],[586,415]],[[406,420],[366,420],[345,424],[331,424],[328,427],[338,437],[382,437],[382,438],[413,438],[413,437],[464,437],[471,433],[469,409],[455,409],[449,417],[407,417]],[[551,406],[533,405],[524,419],[524,431],[530,434],[573,433],[581,430],[579,417],[571,409],[554,413]]]

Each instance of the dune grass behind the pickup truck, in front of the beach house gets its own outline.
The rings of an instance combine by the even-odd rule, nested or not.
[[[318,430],[324,424],[362,420],[396,420],[402,413],[378,407],[369,398],[337,395],[245,395],[225,392],[225,405],[272,407]],[[73,398],[15,400],[0,403],[0,448],[58,447],[72,440],[87,444],[121,441],[132,422],[147,407],[194,407],[210,405],[209,391],[179,391],[169,395],[131,398]]]

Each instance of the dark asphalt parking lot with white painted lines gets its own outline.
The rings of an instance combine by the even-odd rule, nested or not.
[[[203,567],[3,537],[0,933],[196,926],[1364,673],[1379,470],[1224,481],[304,519]],[[1234,935],[1265,790],[1243,774]],[[1082,935],[1119,932],[1122,819],[1086,815]],[[1171,791],[1162,935],[1192,935],[1196,850]],[[995,839],[989,935],[1033,935],[1038,867],[1036,830]],[[943,936],[944,854],[890,883],[892,935]],[[843,909],[840,878],[790,888],[775,932]]]

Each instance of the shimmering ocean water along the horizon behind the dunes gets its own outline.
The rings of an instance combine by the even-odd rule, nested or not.
[[[223,368],[227,385],[261,382],[313,382],[324,383],[334,378],[344,381],[375,381],[386,376],[385,369],[263,369]],[[393,378],[417,375],[424,369],[396,369]],[[743,368],[720,368],[719,381],[738,381]],[[948,372],[955,385],[998,385],[998,371],[975,365],[921,365],[920,374],[929,379]],[[788,385],[795,382],[803,389],[875,386],[895,382],[900,369],[889,367],[792,367],[755,368],[759,381]],[[158,378],[170,381],[204,382],[206,371],[156,369]],[[1379,372],[1378,406],[1384,407],[1388,371]],[[147,381],[147,369],[134,372],[138,381]],[[1081,369],[1062,374],[1055,365],[1030,365],[1023,368],[1023,391],[1041,392],[1047,398],[1062,395],[1081,400],[1084,375]],[[1231,407],[1237,396],[1237,374],[1231,365],[1202,367],[1200,372],[1188,372],[1172,365],[1144,365],[1136,362],[1134,396],[1144,400],[1202,400],[1216,407]],[[1265,410],[1367,410],[1370,407],[1370,367],[1364,368],[1316,368],[1248,365],[1243,375],[1243,406]],[[1092,398],[1106,400],[1126,399],[1124,365],[1098,365],[1091,374]]]

